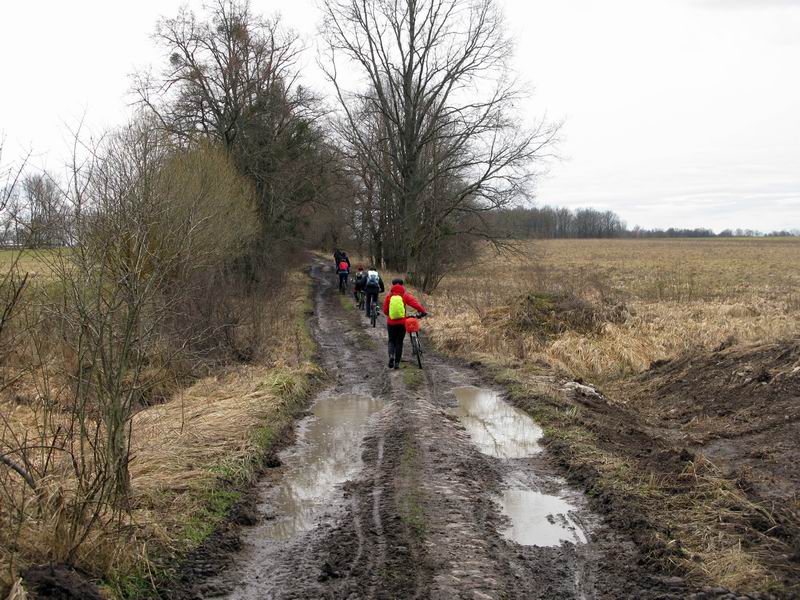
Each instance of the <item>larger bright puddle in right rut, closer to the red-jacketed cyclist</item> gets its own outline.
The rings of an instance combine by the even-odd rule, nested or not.
[[[484,454],[498,458],[524,458],[542,448],[542,428],[523,411],[505,402],[497,392],[466,386],[455,388],[458,417]]]

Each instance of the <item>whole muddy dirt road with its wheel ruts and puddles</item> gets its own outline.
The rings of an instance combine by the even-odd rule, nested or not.
[[[259,484],[242,543],[218,549],[216,573],[183,595],[687,597],[639,572],[633,544],[565,486],[526,414],[467,366],[427,355],[424,372],[389,371],[381,322],[343,309],[320,265],[312,275],[333,383]]]

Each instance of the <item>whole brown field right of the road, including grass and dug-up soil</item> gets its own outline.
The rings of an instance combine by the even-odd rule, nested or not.
[[[529,242],[445,278],[426,331],[661,568],[794,597],[798,284],[794,239]]]

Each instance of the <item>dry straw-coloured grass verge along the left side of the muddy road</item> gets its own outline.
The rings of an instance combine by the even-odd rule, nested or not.
[[[122,523],[94,528],[73,559],[106,582],[110,597],[152,588],[170,557],[201,543],[237,499],[237,486],[253,477],[260,457],[291,423],[318,374],[305,315],[309,286],[307,275],[294,273],[280,298],[259,307],[269,317],[271,348],[258,363],[203,378],[134,416],[131,510]],[[40,421],[35,401],[18,399],[0,399],[17,435],[57,428]],[[53,502],[42,514],[32,512],[20,522],[0,506],[0,520],[15,523],[0,532],[0,597],[26,565],[64,555],[59,532],[65,511],[55,501],[70,502],[70,473],[50,469],[44,493]],[[2,474],[7,485],[27,493],[19,478]]]

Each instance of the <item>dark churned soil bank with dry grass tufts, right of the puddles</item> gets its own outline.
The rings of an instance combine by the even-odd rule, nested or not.
[[[565,385],[556,422],[590,435],[548,444],[597,510],[668,570],[800,597],[800,340],[728,341],[612,387]]]

